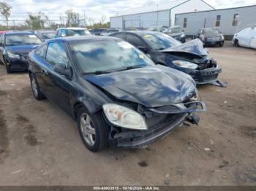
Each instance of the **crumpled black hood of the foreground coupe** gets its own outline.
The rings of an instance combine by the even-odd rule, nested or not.
[[[180,103],[196,88],[189,75],[160,65],[84,78],[120,100],[147,107]]]

